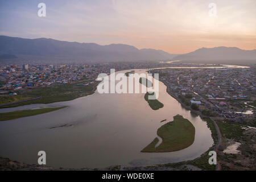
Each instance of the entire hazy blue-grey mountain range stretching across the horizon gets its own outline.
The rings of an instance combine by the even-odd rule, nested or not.
[[[30,57],[44,60],[68,59],[82,61],[140,61],[140,60],[181,60],[181,61],[249,61],[256,63],[256,49],[242,50],[237,47],[200,48],[196,51],[177,55],[156,49],[138,49],[126,44],[101,46],[96,43],[65,42],[54,39],[23,39],[0,36],[0,60]]]

